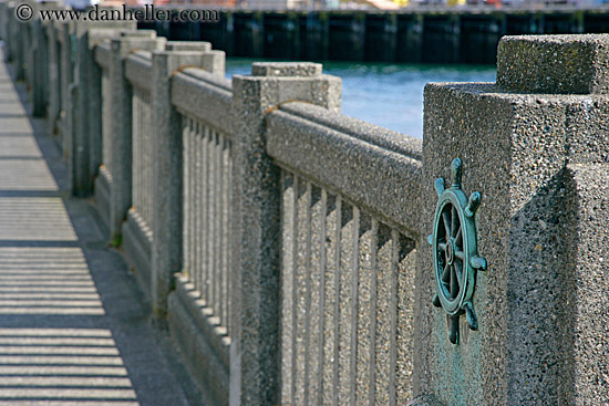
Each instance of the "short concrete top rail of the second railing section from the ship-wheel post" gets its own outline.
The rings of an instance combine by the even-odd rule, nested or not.
[[[203,70],[186,69],[173,77],[172,103],[183,114],[225,128],[233,108],[230,81]]]

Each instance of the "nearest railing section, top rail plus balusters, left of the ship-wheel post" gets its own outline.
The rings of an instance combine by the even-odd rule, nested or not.
[[[266,136],[281,173],[282,403],[405,404],[419,140],[299,102]]]

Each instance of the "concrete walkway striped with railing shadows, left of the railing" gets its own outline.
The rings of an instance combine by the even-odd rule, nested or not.
[[[0,62],[0,406],[197,405],[21,87]]]

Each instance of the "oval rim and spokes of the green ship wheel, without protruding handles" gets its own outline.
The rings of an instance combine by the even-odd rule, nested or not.
[[[438,201],[434,230],[436,291],[444,310],[458,314],[468,290],[466,219],[460,198],[451,192]],[[448,237],[448,238],[446,238]]]

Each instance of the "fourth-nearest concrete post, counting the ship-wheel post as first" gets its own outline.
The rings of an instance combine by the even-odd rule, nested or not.
[[[112,185],[110,202],[110,237],[118,241],[121,222],[131,206],[132,185],[132,96],[133,90],[124,74],[124,59],[132,50],[156,51],[165,48],[165,39],[149,30],[122,32],[111,41],[110,82],[112,93]]]

